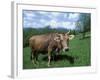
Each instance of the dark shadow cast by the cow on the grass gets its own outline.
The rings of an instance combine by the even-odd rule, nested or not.
[[[69,56],[69,55],[54,55],[51,57],[52,61],[60,61],[60,60],[67,60],[70,62],[70,64],[74,64],[75,57]],[[47,56],[43,58],[43,60],[48,60]]]

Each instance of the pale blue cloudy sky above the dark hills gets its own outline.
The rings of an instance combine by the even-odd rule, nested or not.
[[[75,23],[79,19],[79,13],[47,12],[23,10],[24,28],[65,28],[75,29]]]

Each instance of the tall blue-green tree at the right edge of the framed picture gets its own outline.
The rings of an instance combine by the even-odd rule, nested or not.
[[[79,20],[76,23],[77,29],[82,33],[82,38],[85,37],[86,32],[91,30],[91,14],[80,13]]]

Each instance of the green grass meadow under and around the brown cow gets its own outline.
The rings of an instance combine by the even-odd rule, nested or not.
[[[70,50],[68,52],[61,52],[60,55],[55,56],[55,60],[51,61],[50,68],[91,65],[90,37],[79,38],[80,36],[77,35],[70,41]],[[48,68],[47,55],[40,54],[38,59],[39,63],[37,65],[32,64],[30,60],[30,48],[25,47],[23,49],[23,69]]]

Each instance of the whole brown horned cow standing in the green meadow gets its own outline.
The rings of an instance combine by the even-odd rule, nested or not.
[[[31,60],[33,63],[37,60],[38,53],[48,53],[48,66],[50,66],[50,59],[52,51],[59,52],[69,50],[68,43],[69,39],[74,36],[69,37],[69,33],[66,34],[44,34],[32,36],[29,39],[29,45],[31,48]]]

